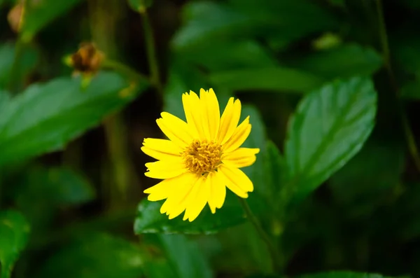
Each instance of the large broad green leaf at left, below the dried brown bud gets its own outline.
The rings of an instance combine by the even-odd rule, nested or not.
[[[80,89],[80,78],[29,86],[0,111],[0,165],[59,150],[130,102],[134,95],[120,94],[125,88],[137,89],[105,72],[86,90]]]

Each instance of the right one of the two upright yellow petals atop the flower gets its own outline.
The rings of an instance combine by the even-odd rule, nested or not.
[[[215,140],[221,121],[221,111],[213,89],[200,90],[200,100],[203,109],[203,127],[207,139]]]

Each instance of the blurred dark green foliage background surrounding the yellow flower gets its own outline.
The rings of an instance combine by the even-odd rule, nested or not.
[[[1,277],[420,277],[419,26],[418,0],[0,0]],[[144,199],[143,139],[200,88],[251,115],[276,274],[233,195],[193,223]]]

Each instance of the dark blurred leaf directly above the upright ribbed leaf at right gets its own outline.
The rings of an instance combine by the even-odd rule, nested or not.
[[[292,66],[324,78],[370,76],[382,65],[381,56],[371,48],[354,43],[318,51],[292,60]]]

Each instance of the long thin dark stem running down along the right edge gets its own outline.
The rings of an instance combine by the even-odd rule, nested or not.
[[[376,0],[376,8],[377,8],[377,16],[378,16],[378,25],[379,25],[379,39],[381,41],[381,48],[382,48],[382,55],[384,57],[384,63],[386,71],[388,72],[389,82],[394,89],[395,96],[398,99],[398,110],[400,114],[400,120],[402,123],[402,129],[404,130],[405,140],[407,142],[408,151],[412,156],[412,160],[414,161],[414,165],[418,172],[420,172],[420,155],[419,155],[419,148],[416,145],[416,140],[414,139],[414,134],[409,126],[409,120],[407,117],[407,113],[405,112],[404,107],[400,101],[400,93],[398,89],[397,82],[395,80],[395,76],[393,74],[393,69],[391,66],[391,55],[389,50],[388,44],[388,34],[386,33],[386,25],[384,20],[384,9],[382,7],[381,0]]]

